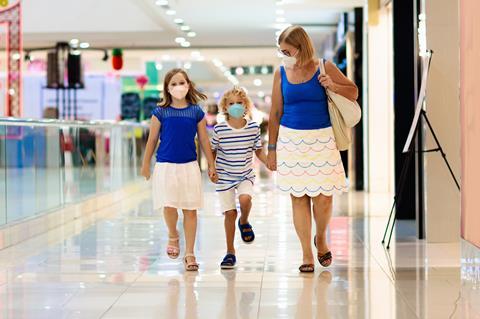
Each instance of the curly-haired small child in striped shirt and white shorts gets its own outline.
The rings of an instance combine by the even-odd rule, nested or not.
[[[242,240],[252,243],[255,239],[252,225],[248,222],[255,180],[252,159],[255,151],[260,161],[265,164],[266,155],[262,150],[259,125],[245,118],[250,115],[251,109],[252,101],[243,89],[235,87],[225,92],[220,101],[220,110],[225,113],[226,122],[217,124],[213,131],[212,147],[218,169],[216,188],[225,215],[227,240],[227,254],[220,264],[223,269],[233,268],[236,264],[233,246],[237,219],[235,193],[238,194],[240,202],[238,228]]]

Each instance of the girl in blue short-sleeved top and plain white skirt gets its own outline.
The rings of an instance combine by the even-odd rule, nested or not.
[[[200,93],[182,69],[173,69],[165,76],[164,99],[153,111],[150,134],[143,160],[142,176],[150,178],[150,160],[155,147],[157,163],[153,171],[153,206],[164,207],[168,227],[167,255],[180,255],[177,231],[177,209],[183,210],[185,232],[185,270],[196,271],[198,264],[193,254],[197,230],[197,209],[202,208],[203,194],[200,169],[197,163],[195,135],[208,161],[208,175],[215,181],[215,163],[204,119],[198,102],[206,98]]]

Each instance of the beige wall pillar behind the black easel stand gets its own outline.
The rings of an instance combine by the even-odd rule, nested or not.
[[[458,5],[458,0],[425,1],[427,46],[434,52],[427,86],[427,114],[453,172],[460,178]],[[428,131],[425,144],[426,148],[435,147]],[[428,242],[458,241],[460,192],[439,153],[425,155],[425,172],[426,239]]]

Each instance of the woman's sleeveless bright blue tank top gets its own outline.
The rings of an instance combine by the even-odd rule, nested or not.
[[[328,113],[325,88],[318,82],[320,71],[300,84],[288,82],[287,72],[280,67],[282,76],[283,115],[280,124],[295,130],[315,130],[332,126]]]

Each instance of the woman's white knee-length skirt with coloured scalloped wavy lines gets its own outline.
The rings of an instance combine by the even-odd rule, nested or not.
[[[277,172],[278,188],[295,197],[332,196],[348,191],[331,127],[294,130],[280,126]]]

